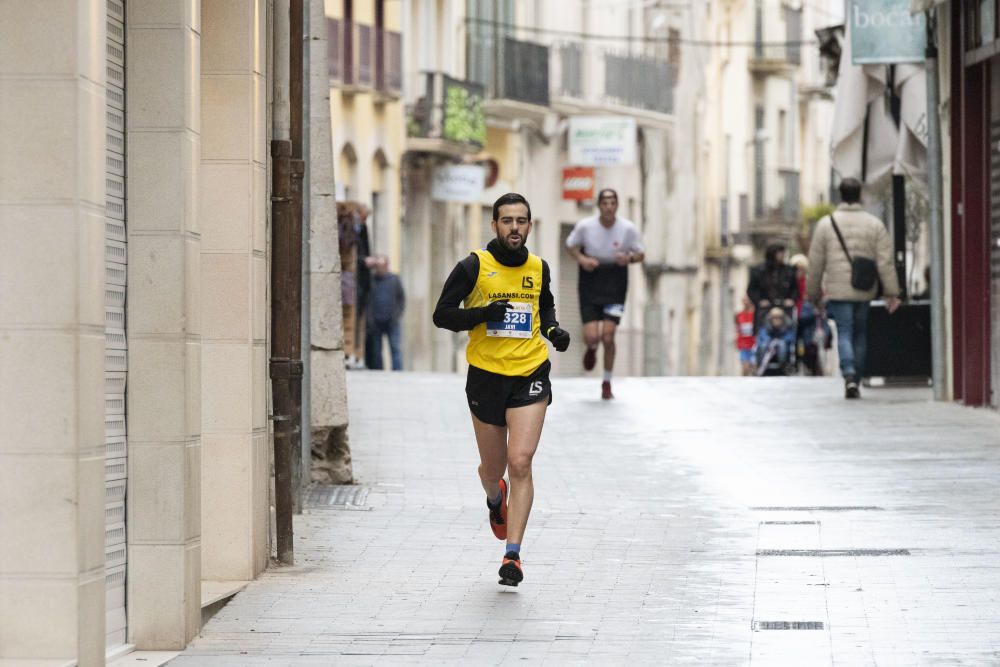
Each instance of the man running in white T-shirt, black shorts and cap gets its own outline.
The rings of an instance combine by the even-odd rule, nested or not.
[[[615,329],[625,313],[628,265],[645,257],[635,224],[618,217],[618,193],[610,188],[597,195],[600,214],[576,223],[566,239],[569,254],[580,265],[580,319],[587,351],[584,370],[597,363],[597,345],[604,344],[601,398],[614,398],[611,376],[615,368]]]

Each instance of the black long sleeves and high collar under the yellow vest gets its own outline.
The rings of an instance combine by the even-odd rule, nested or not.
[[[504,266],[521,266],[528,261],[528,252],[511,252],[506,250],[496,240],[490,241],[486,249],[498,262]],[[472,293],[479,277],[479,256],[475,253],[459,262],[451,275],[444,282],[441,297],[434,308],[434,325],[451,331],[468,331],[477,324],[486,321],[482,308],[462,308],[465,297]],[[538,316],[541,320],[543,335],[552,327],[559,326],[556,321],[556,302],[552,296],[549,283],[551,274],[549,265],[542,260],[542,292],[538,298]]]

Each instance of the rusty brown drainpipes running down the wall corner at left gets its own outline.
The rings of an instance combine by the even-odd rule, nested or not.
[[[271,163],[274,506],[278,561],[291,565],[302,399],[302,0],[274,4]]]

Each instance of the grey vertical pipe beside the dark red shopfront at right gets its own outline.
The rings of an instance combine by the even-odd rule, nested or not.
[[[941,117],[938,115],[936,11],[927,11],[927,180],[930,193],[931,253],[931,382],[934,400],[947,398],[945,390],[945,312],[944,312],[944,223],[941,185]],[[956,48],[959,45],[956,45]]]

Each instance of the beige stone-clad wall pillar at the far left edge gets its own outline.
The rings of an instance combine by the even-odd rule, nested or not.
[[[0,11],[0,662],[98,665],[105,6]]]

